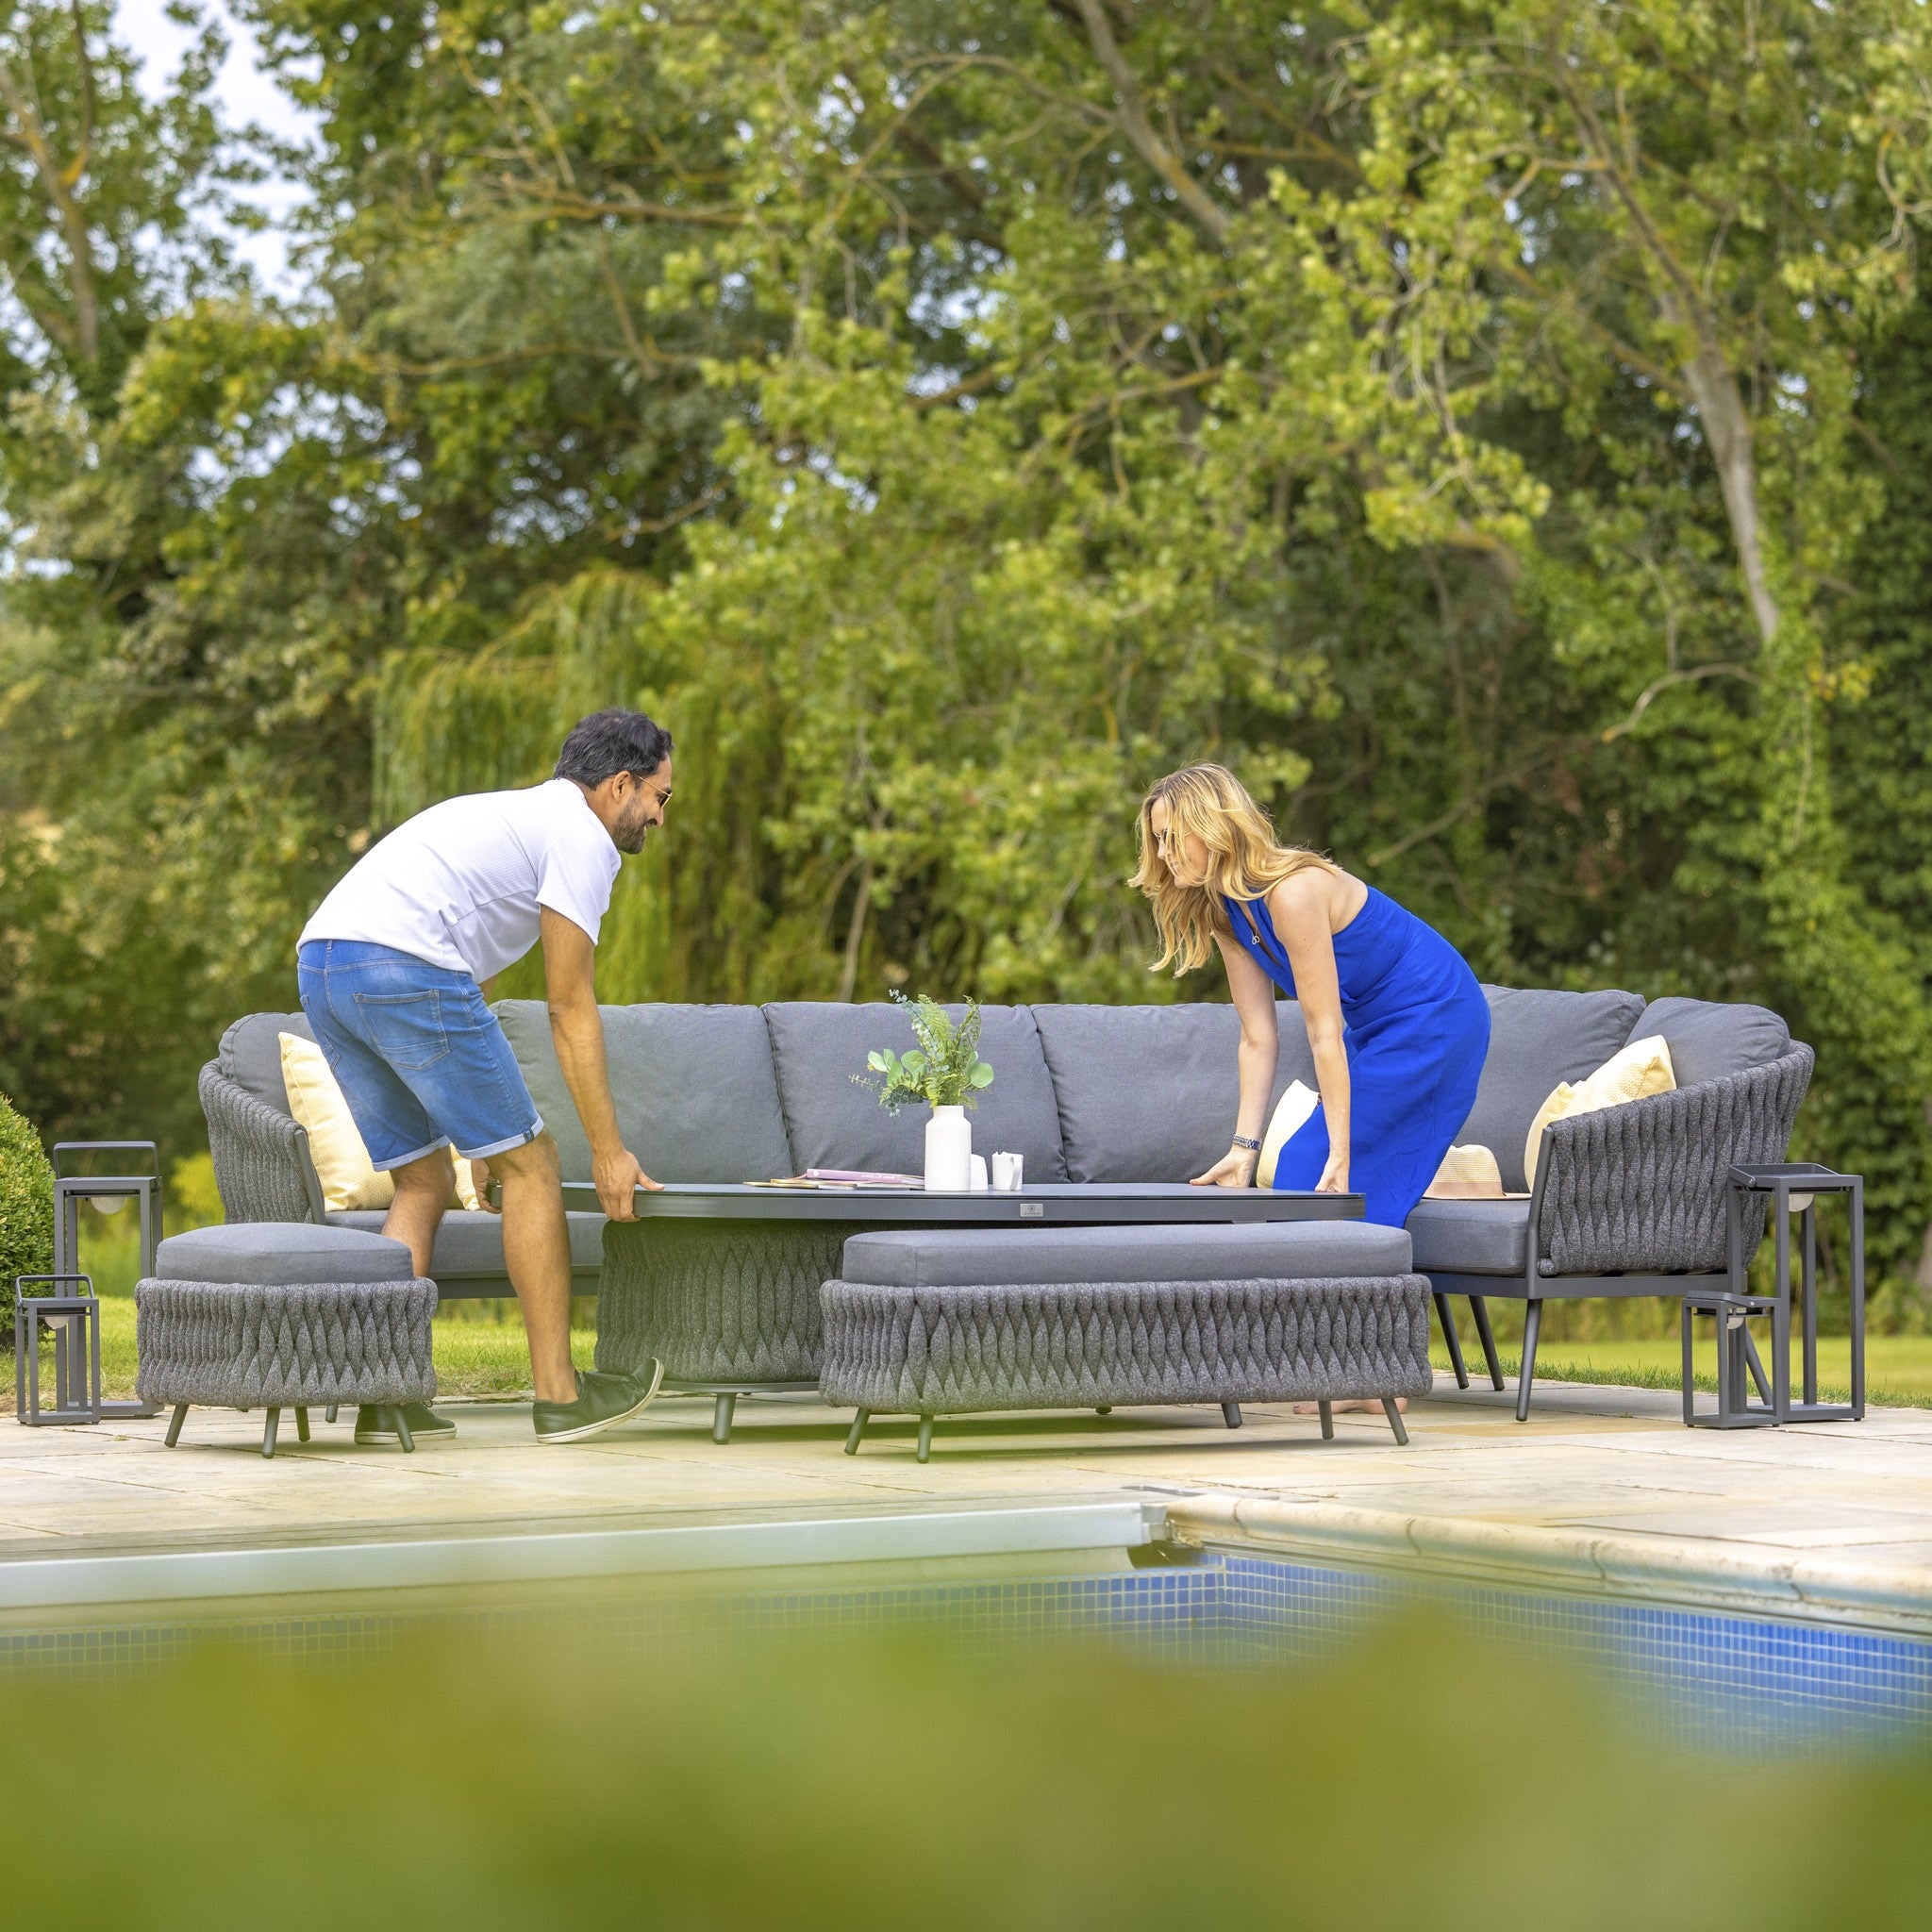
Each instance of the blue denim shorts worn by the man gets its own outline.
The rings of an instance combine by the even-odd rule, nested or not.
[[[543,1132],[469,974],[361,939],[311,939],[296,968],[301,1010],[371,1165],[402,1167],[448,1146],[483,1161]]]

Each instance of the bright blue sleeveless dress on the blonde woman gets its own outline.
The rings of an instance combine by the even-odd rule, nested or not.
[[[1235,939],[1294,999],[1267,900],[1225,904]],[[1374,887],[1335,935],[1335,976],[1349,1053],[1349,1186],[1364,1196],[1364,1221],[1401,1227],[1474,1105],[1490,1003],[1463,954]],[[1327,1151],[1316,1107],[1281,1150],[1275,1186],[1312,1188]]]

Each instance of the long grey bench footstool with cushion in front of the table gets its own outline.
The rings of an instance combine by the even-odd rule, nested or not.
[[[858,1418],[1379,1399],[1430,1376],[1430,1285],[1408,1235],[1366,1221],[916,1229],[854,1235],[827,1281],[825,1401]]]

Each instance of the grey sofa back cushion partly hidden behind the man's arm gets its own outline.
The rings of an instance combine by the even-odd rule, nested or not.
[[[624,1146],[653,1180],[773,1180],[790,1151],[757,1007],[599,1007]],[[556,1138],[566,1180],[591,1179],[591,1146],[564,1086],[541,999],[504,999],[529,1097]]]

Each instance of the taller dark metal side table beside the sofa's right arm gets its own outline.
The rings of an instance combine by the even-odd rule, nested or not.
[[[1818,1196],[1843,1194],[1851,1213],[1851,1401],[1818,1401]],[[1754,1302],[1745,1281],[1745,1213],[1752,1202],[1772,1209],[1774,1277],[1772,1410],[1777,1422],[1864,1420],[1864,1177],[1841,1175],[1816,1161],[1733,1167],[1725,1186],[1729,1294]],[[1799,1215],[1799,1279],[1791,1279],[1791,1215]],[[1801,1304],[1803,1401],[1791,1399],[1791,1314]],[[1687,1397],[1689,1401],[1689,1391]]]

